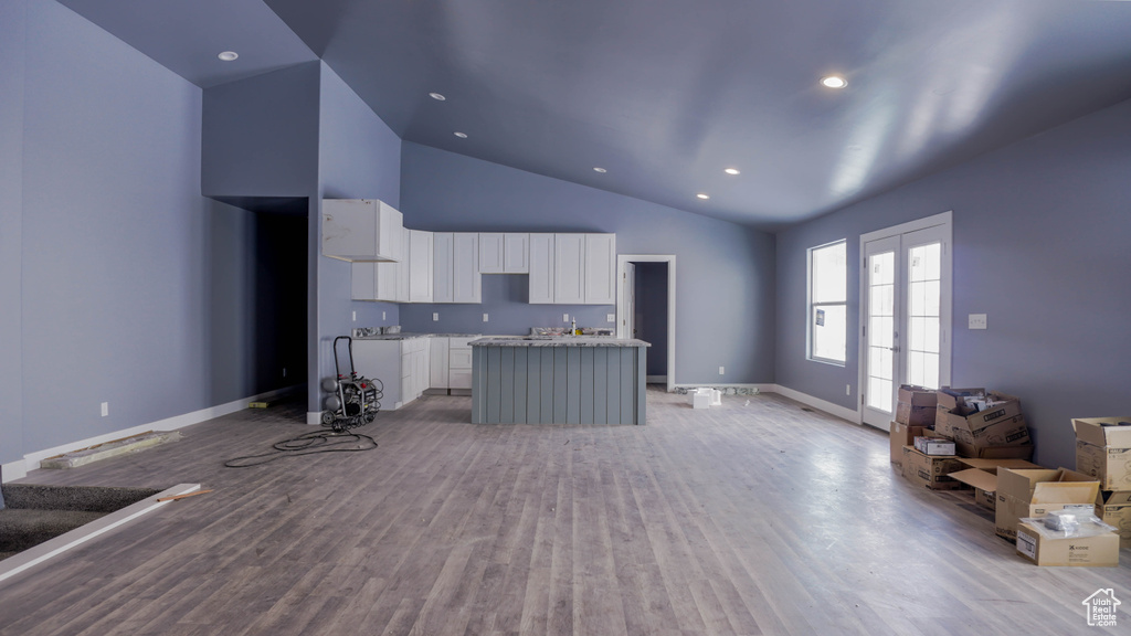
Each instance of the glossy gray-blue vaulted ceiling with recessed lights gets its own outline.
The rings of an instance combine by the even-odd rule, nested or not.
[[[321,58],[405,140],[766,230],[1131,98],[1131,1],[60,1],[202,87]]]

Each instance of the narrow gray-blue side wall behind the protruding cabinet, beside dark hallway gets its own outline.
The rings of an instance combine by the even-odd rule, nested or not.
[[[320,197],[380,199],[399,209],[400,138],[326,65],[321,66],[320,104]],[[316,221],[321,223],[320,213]],[[400,318],[399,306],[395,303],[352,301],[349,264],[318,253],[321,233],[314,237],[319,377],[326,377],[334,375],[331,347],[336,336],[349,335],[353,327],[396,325]],[[357,313],[356,321],[353,312]],[[317,381],[311,381],[310,387],[310,409],[316,411],[319,409]]]

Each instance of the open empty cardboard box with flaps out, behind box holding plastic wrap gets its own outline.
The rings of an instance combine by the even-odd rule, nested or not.
[[[999,469],[994,532],[1015,541],[1019,519],[1065,508],[1095,510],[1098,496],[1097,480],[1068,469]]]

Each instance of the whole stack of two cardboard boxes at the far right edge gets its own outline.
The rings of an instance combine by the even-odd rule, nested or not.
[[[1131,548],[1131,416],[1072,420],[1076,470],[1099,480],[1096,516],[1119,528]]]

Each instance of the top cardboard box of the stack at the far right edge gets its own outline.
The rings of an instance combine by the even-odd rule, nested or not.
[[[1131,490],[1131,422],[1125,418],[1072,420],[1076,470],[1098,478],[1104,490]]]

